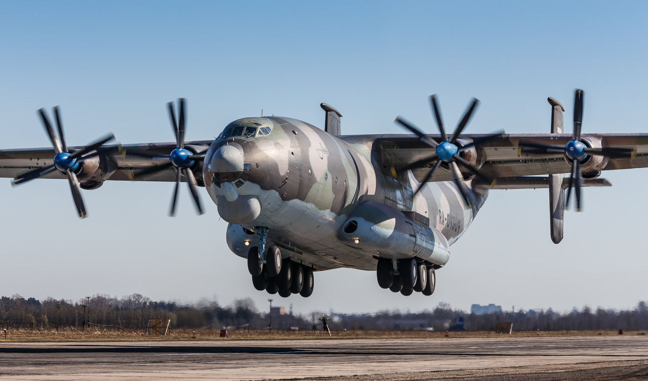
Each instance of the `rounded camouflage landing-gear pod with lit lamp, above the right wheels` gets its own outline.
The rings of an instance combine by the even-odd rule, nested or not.
[[[338,231],[338,239],[383,258],[418,257],[441,266],[450,259],[448,240],[439,231],[413,222],[397,209],[372,201],[356,207]]]

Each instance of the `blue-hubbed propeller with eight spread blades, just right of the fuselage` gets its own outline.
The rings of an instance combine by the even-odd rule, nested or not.
[[[431,95],[430,102],[432,103],[432,110],[434,110],[434,116],[437,122],[437,127],[439,128],[439,132],[441,132],[441,143],[437,143],[437,141],[432,139],[430,135],[426,135],[422,133],[419,128],[417,128],[410,122],[406,121],[402,117],[397,117],[396,118],[397,123],[404,126],[411,132],[415,133],[423,143],[426,143],[432,148],[434,148],[433,155],[424,157],[421,160],[415,161],[414,163],[406,165],[405,167],[399,168],[398,172],[402,173],[412,169],[429,167],[429,165],[432,162],[436,161],[434,167],[432,167],[432,169],[428,172],[428,174],[426,174],[425,178],[422,179],[421,186],[414,193],[416,195],[418,192],[421,191],[422,185],[430,181],[432,176],[434,176],[434,172],[437,170],[437,168],[439,168],[439,166],[441,166],[441,163],[446,163],[446,165],[452,172],[452,177],[454,178],[454,182],[456,183],[457,187],[459,188],[459,191],[461,192],[461,196],[463,196],[465,202],[474,209],[476,207],[474,196],[472,192],[470,192],[468,187],[465,185],[463,174],[461,173],[461,170],[459,170],[459,166],[457,165],[457,163],[461,164],[463,167],[466,167],[470,172],[472,172],[472,174],[474,174],[478,178],[483,179],[484,181],[486,181],[491,185],[494,185],[495,183],[494,179],[483,174],[482,172],[480,172],[480,170],[470,165],[470,162],[468,160],[461,157],[461,153],[471,147],[478,147],[481,146],[481,144],[487,143],[489,141],[503,139],[504,136],[503,132],[493,133],[491,135],[485,135],[480,139],[474,139],[472,143],[465,144],[463,146],[459,145],[457,139],[459,138],[459,135],[461,135],[461,132],[463,132],[463,129],[466,127],[468,122],[470,121],[470,116],[472,115],[472,112],[478,106],[480,101],[477,100],[477,98],[472,98],[469,107],[463,113],[463,117],[461,118],[461,121],[459,121],[459,124],[457,124],[457,128],[454,130],[454,133],[452,133],[451,137],[448,137],[448,135],[446,135],[445,129],[443,128],[443,119],[441,119],[441,113],[437,106],[437,96]]]

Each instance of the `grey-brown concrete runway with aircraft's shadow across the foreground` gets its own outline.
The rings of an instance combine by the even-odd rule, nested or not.
[[[0,343],[0,380],[562,380],[579,375],[648,379],[648,337]]]

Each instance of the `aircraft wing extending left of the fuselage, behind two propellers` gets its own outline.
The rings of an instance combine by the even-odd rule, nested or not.
[[[190,141],[185,146],[192,148],[195,152],[202,152],[209,148],[211,141]],[[71,151],[80,150],[84,146],[71,147]],[[108,163],[115,169],[108,180],[128,180],[128,181],[176,181],[176,172],[170,167],[154,174],[145,176],[133,176],[139,170],[163,164],[166,161],[153,157],[135,156],[135,152],[145,154],[164,154],[168,155],[176,148],[176,142],[172,143],[146,143],[146,144],[128,144],[124,146],[106,145],[105,158]],[[129,153],[130,152],[130,153]],[[0,150],[0,177],[15,178],[34,168],[47,167],[53,162],[56,154],[53,148],[20,148],[10,150]],[[168,161],[168,160],[167,160]],[[65,179],[58,170],[54,170],[41,176],[46,179]],[[182,178],[181,181],[185,181]]]

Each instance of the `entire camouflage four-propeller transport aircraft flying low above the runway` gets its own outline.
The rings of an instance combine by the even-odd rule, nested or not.
[[[76,211],[86,216],[79,189],[106,180],[181,182],[198,213],[198,187],[229,222],[227,244],[248,259],[257,290],[282,297],[313,292],[314,271],[375,270],[392,292],[432,295],[435,270],[450,258],[450,245],[470,225],[489,189],[548,188],[553,242],[562,239],[564,205],[573,189],[609,186],[602,170],[648,167],[648,136],[581,134],[583,91],[575,92],[573,132],[563,133],[564,108],[551,104],[551,133],[467,135],[478,105],[473,99],[452,135],[446,133],[437,98],[430,97],[440,134],[342,135],[341,114],[327,104],[325,128],[286,117],[250,117],[228,124],[214,140],[185,142],[185,100],[178,117],[168,104],[174,143],[88,146],[65,144],[38,114],[52,148],[0,150],[0,176],[15,184],[67,178]],[[565,173],[571,173],[569,179]],[[567,196],[564,197],[564,190]],[[564,201],[566,200],[566,202]]]

